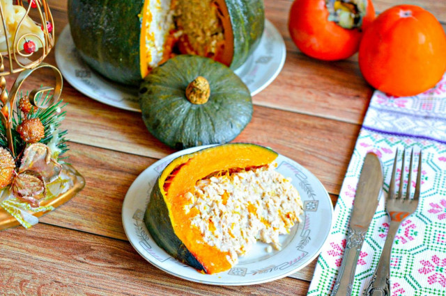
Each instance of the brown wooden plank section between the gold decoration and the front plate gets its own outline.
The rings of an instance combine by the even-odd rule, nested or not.
[[[156,160],[70,143],[69,162],[86,179],[84,190],[40,222],[127,240],[121,222],[125,194]]]

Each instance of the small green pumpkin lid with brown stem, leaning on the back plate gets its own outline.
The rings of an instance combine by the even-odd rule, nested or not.
[[[153,69],[141,83],[139,103],[148,131],[176,149],[229,142],[252,117],[243,81],[201,56],[176,56]]]

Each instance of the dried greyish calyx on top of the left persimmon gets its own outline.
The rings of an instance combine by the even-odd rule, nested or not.
[[[342,28],[361,28],[362,19],[367,13],[367,0],[325,0],[328,20]]]

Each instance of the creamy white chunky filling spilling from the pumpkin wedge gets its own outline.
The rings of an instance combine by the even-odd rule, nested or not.
[[[299,192],[276,166],[220,172],[198,181],[194,191],[184,195],[189,201],[185,213],[192,208],[199,211],[192,225],[208,245],[229,252],[232,265],[256,240],[280,249],[279,235],[300,222]]]

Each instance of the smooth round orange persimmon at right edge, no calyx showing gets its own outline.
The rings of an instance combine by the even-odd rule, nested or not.
[[[446,34],[429,11],[394,6],[380,14],[362,37],[359,54],[364,79],[396,97],[420,94],[446,71]]]

